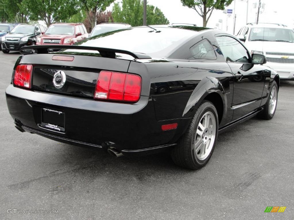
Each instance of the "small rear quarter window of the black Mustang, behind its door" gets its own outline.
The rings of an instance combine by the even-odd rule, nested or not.
[[[207,39],[203,39],[190,48],[195,59],[216,60],[216,53]]]

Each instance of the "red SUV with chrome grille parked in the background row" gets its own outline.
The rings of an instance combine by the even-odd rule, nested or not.
[[[44,35],[37,38],[36,45],[73,45],[89,37],[82,23],[51,24]]]

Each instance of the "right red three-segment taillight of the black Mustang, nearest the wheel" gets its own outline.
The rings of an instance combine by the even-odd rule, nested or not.
[[[120,72],[101,71],[96,83],[95,99],[136,102],[140,98],[141,77]]]

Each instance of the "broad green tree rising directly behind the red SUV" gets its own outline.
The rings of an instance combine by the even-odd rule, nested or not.
[[[42,20],[47,26],[70,18],[78,12],[77,0],[23,0],[30,20]]]

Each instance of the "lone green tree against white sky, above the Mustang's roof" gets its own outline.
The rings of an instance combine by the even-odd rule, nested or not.
[[[181,0],[183,6],[194,9],[203,19],[203,27],[207,22],[214,9],[224,10],[233,0]]]

